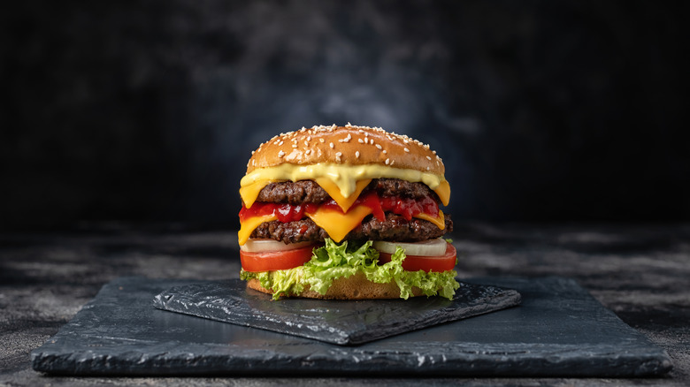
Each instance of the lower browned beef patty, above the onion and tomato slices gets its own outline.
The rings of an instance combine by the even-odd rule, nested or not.
[[[442,237],[446,232],[453,231],[453,221],[450,215],[445,215],[446,228],[439,229],[435,224],[426,220],[412,218],[408,221],[403,216],[393,213],[386,214],[386,220],[381,222],[375,216],[367,216],[355,229],[349,231],[345,240],[390,240],[397,242],[418,242],[421,240]],[[305,217],[295,222],[282,223],[278,220],[259,224],[251,233],[250,238],[275,239],[285,243],[306,241],[323,241],[328,238],[324,229],[318,227],[310,218]]]

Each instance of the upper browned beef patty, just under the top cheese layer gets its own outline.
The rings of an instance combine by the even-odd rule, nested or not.
[[[439,196],[424,183],[410,183],[399,178],[374,178],[364,192],[376,191],[380,196],[401,196],[404,198],[423,199],[431,196],[440,202]],[[257,201],[272,203],[323,203],[331,197],[326,190],[313,180],[285,181],[271,183],[258,194]]]

